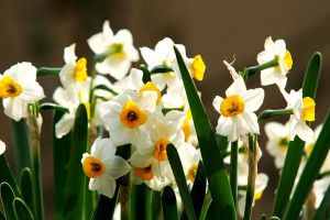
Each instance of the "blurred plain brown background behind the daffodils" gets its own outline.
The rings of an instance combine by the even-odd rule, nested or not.
[[[322,76],[317,95],[317,125],[329,108],[330,85],[330,2],[319,1],[197,1],[197,0],[1,0],[0,1],[0,72],[18,62],[35,66],[63,66],[63,50],[77,43],[78,56],[92,56],[86,40],[101,31],[109,20],[114,31],[129,29],[136,47],[154,47],[165,36],[183,43],[190,56],[201,54],[207,73],[197,86],[202,92],[207,111],[216,124],[218,116],[211,107],[216,95],[223,95],[231,77],[222,61],[234,67],[256,64],[256,54],[263,51],[264,40],[284,38],[294,58],[287,89],[299,89],[304,73],[314,52],[323,55]],[[138,66],[138,63],[134,64]],[[57,77],[38,79],[52,100]],[[260,87],[260,77],[249,79],[249,87]],[[284,108],[285,102],[276,86],[265,88],[263,109]],[[2,107],[1,107],[2,108]],[[1,109],[2,112],[2,109]],[[44,196],[47,219],[53,219],[53,158],[52,113],[43,113],[42,156]],[[287,118],[276,120],[285,122]],[[265,136],[262,123],[262,136]],[[0,113],[0,139],[8,144],[7,156],[13,164],[11,120]],[[264,150],[266,139],[262,138]],[[270,175],[270,183],[261,201],[256,202],[254,219],[271,213],[278,172],[274,161],[264,151],[260,170]],[[0,170],[1,172],[1,170]]]

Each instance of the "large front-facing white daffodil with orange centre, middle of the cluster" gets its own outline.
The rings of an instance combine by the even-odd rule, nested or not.
[[[155,91],[127,90],[99,106],[99,114],[116,146],[134,144],[150,145],[146,124],[150,113],[156,109]]]

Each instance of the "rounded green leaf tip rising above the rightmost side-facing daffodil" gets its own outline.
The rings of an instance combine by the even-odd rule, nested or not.
[[[309,61],[304,82],[302,82],[302,97],[310,97],[315,99],[322,66],[322,56],[319,52],[315,53]]]

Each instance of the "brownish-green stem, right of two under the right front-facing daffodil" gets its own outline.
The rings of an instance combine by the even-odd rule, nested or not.
[[[254,200],[255,178],[257,175],[257,150],[256,150],[256,135],[249,134],[249,176],[248,189],[245,198],[244,220],[251,220],[252,206]]]

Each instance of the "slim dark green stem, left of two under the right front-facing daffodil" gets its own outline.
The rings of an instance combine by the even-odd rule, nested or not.
[[[230,186],[233,197],[234,206],[238,204],[238,156],[239,156],[239,143],[238,141],[231,143],[230,153]]]

